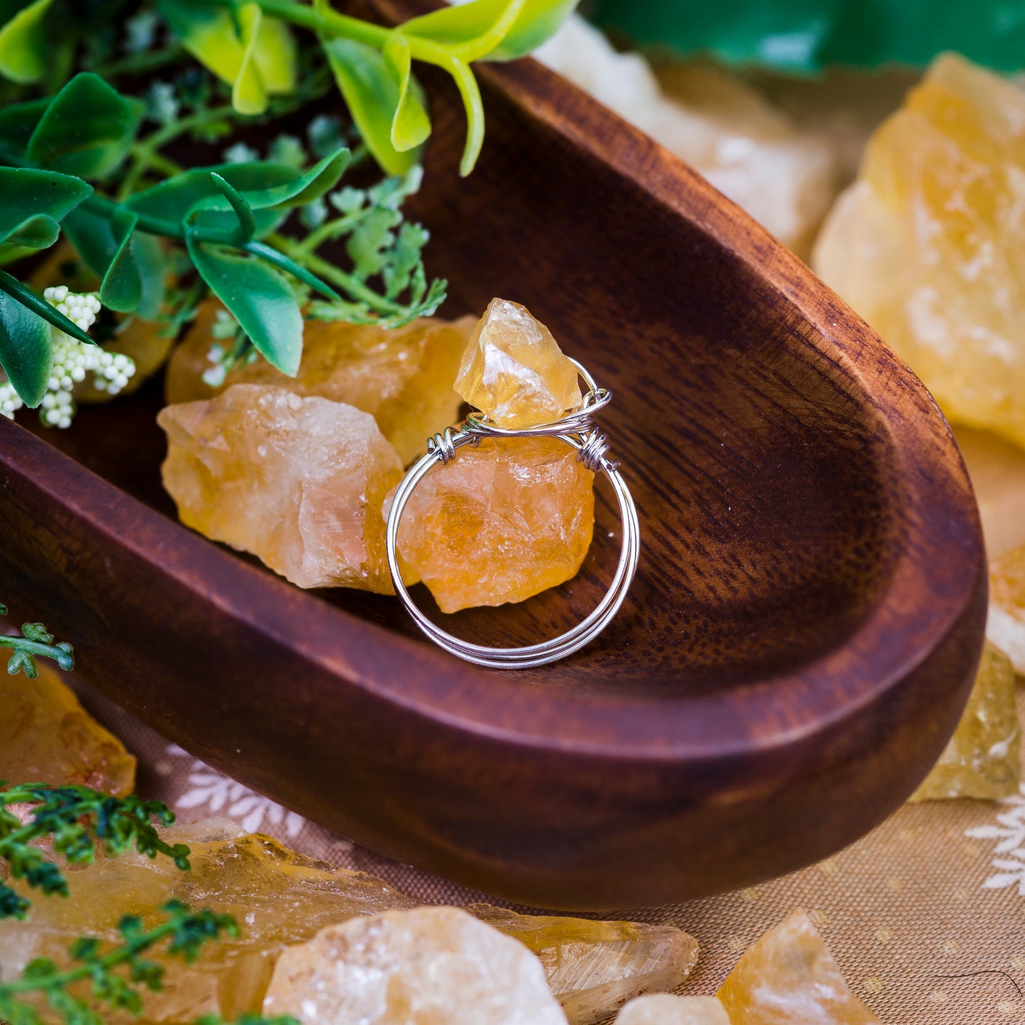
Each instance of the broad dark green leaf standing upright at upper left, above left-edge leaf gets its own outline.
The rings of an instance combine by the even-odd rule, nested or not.
[[[140,104],[83,72],[50,101],[29,139],[28,159],[65,174],[104,177],[127,156],[140,118]]]

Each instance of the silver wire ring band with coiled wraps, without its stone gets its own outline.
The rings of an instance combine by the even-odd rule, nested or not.
[[[605,388],[596,385],[593,378],[584,368],[572,361],[577,368],[587,393],[579,409],[551,423],[541,423],[530,427],[499,427],[491,423],[482,413],[475,413],[466,419],[461,427],[453,432],[447,428],[443,434],[435,435],[427,442],[427,452],[421,456],[409,469],[399,490],[395,494],[387,518],[387,562],[392,571],[395,589],[416,625],[445,651],[467,662],[486,665],[495,669],[528,669],[536,665],[545,665],[558,661],[579,651],[589,644],[612,621],[619,611],[626,592],[629,590],[637,572],[638,560],[641,555],[641,525],[638,522],[637,507],[626,482],[619,474],[619,463],[607,458],[609,442],[592,424],[592,417],[600,409],[609,404],[612,395]],[[592,473],[604,473],[616,493],[619,502],[619,512],[623,521],[623,542],[619,554],[619,562],[612,582],[605,597],[586,619],[572,629],[561,633],[550,641],[528,645],[523,648],[488,648],[483,645],[470,644],[451,633],[446,632],[429,620],[413,603],[406,585],[402,582],[399,571],[398,539],[399,522],[410,495],[424,476],[439,463],[447,463],[464,445],[480,445],[482,438],[537,438],[554,437],[566,442],[577,450],[577,458]]]

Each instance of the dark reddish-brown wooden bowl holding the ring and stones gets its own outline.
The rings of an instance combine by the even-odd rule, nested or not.
[[[644,544],[612,627],[502,673],[394,599],[290,586],[175,522],[157,384],[45,441],[0,418],[4,600],[197,756],[496,895],[653,905],[807,865],[900,805],[965,703],[986,574],[957,448],[865,324],[687,166],[532,61],[481,77],[465,181],[455,91],[429,80],[415,213],[447,312],[525,302],[615,393]],[[485,643],[575,621],[614,562],[609,498],[576,580],[451,621]]]

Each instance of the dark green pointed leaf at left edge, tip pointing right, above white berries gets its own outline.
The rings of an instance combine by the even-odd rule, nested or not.
[[[0,167],[0,241],[34,249],[53,245],[57,222],[91,194],[91,186],[70,174]]]

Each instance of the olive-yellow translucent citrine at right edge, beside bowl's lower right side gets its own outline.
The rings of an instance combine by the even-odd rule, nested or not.
[[[1007,797],[1018,792],[1021,727],[1011,659],[986,642],[957,730],[911,801]]]

